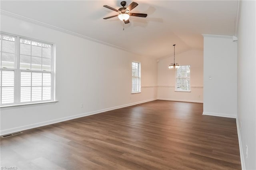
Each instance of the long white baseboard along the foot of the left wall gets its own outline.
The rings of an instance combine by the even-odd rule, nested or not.
[[[22,131],[22,130],[28,130],[28,129],[31,129],[31,128],[37,128],[37,127],[42,127],[42,126],[46,126],[46,125],[51,125],[51,124],[54,124],[54,123],[59,123],[59,122],[68,121],[68,120],[71,120],[71,119],[77,119],[77,118],[80,118],[80,117],[90,116],[90,115],[94,115],[94,114],[98,114],[98,113],[102,113],[102,112],[106,112],[106,111],[111,111],[111,110],[114,110],[114,109],[120,109],[120,108],[123,108],[123,107],[138,105],[140,103],[146,103],[146,102],[154,101],[154,100],[157,100],[157,99],[149,99],[149,100],[139,101],[139,102],[135,102],[135,103],[129,103],[129,104],[126,104],[126,105],[110,107],[110,108],[102,109],[102,110],[98,110],[98,111],[82,113],[82,114],[79,114],[79,115],[63,117],[63,118],[60,118],[60,119],[54,119],[54,120],[51,120],[51,121],[45,121],[45,122],[34,123],[34,124],[21,126],[21,127],[9,128],[9,129],[6,129],[6,130],[1,130],[0,135],[2,136],[4,134],[19,132],[19,131]]]

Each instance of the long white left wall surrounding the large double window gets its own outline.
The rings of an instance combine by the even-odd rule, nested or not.
[[[156,60],[4,15],[1,31],[56,44],[56,100],[59,101],[1,109],[1,134],[157,97]],[[131,94],[132,61],[141,62],[141,93]]]

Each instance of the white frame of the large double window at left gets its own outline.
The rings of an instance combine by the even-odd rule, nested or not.
[[[51,42],[36,40],[34,38],[28,38],[26,36],[19,36],[19,35],[15,35],[15,34],[6,33],[6,32],[0,32],[0,35],[11,36],[11,37],[15,37],[15,39],[16,39],[15,56],[14,56],[14,68],[10,69],[10,68],[1,68],[0,67],[0,70],[14,70],[14,103],[0,104],[0,108],[21,106],[21,105],[34,105],[34,104],[37,104],[37,103],[40,104],[40,103],[57,102],[55,100],[55,48],[56,48],[56,45],[54,43],[51,43]],[[52,58],[51,58],[51,61],[50,61],[50,63],[51,63],[50,71],[32,70],[31,68],[29,70],[28,69],[20,69],[20,39],[25,39],[25,40],[28,40],[28,41],[33,41],[33,42],[38,42],[38,43],[44,43],[44,44],[47,44],[47,45],[51,45],[51,56],[52,56]],[[32,54],[30,54],[30,56],[32,56]],[[30,65],[31,65],[31,61],[30,61]],[[42,63],[41,63],[41,65],[42,65]],[[42,74],[43,73],[51,73],[51,99],[49,99],[49,100],[39,100],[39,101],[20,102],[21,72],[22,71],[30,72],[31,74],[33,72],[40,72]],[[2,74],[1,74],[1,76],[2,76]],[[0,96],[0,97],[2,97],[2,96]]]

